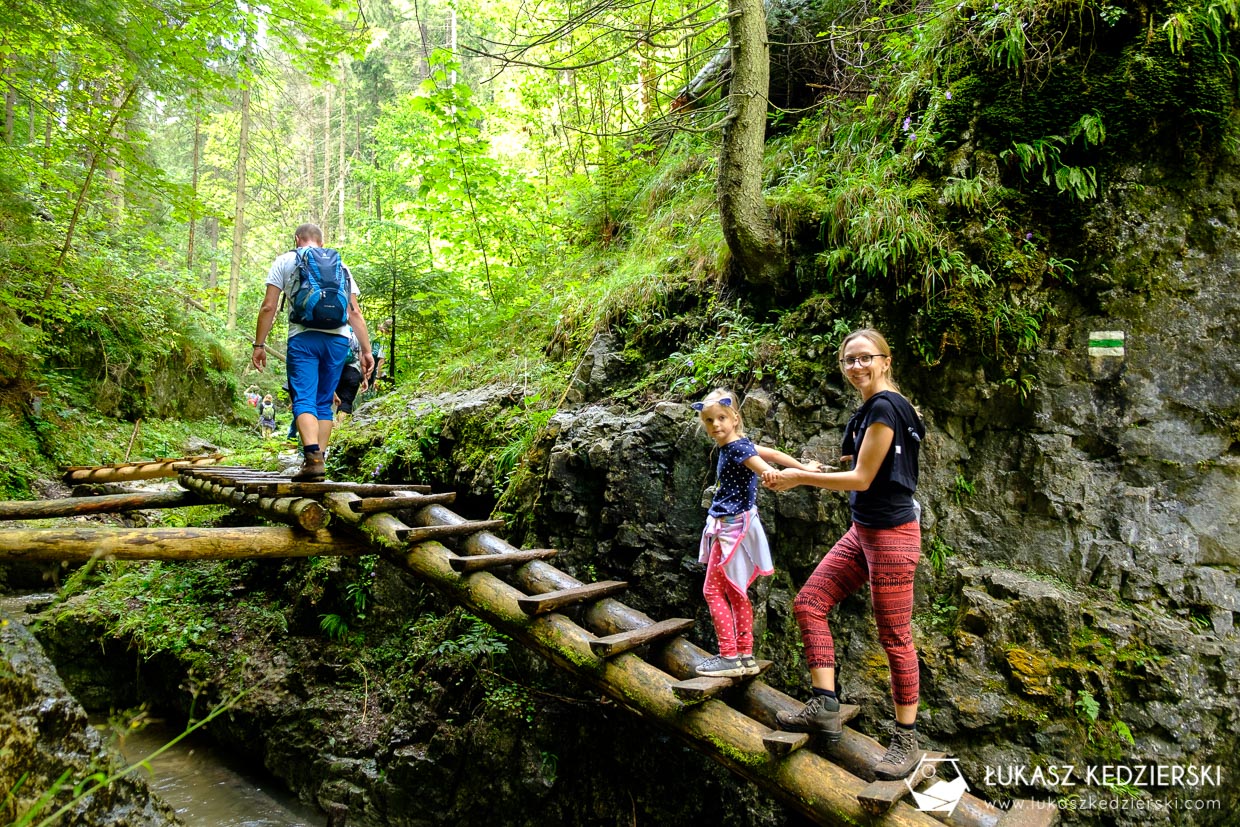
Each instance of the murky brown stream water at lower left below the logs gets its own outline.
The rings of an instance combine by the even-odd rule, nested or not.
[[[55,596],[0,594],[0,611],[25,622],[30,619],[27,606],[46,605]],[[126,761],[140,761],[180,732],[153,723],[128,733],[120,751]],[[327,816],[317,807],[303,803],[274,779],[248,771],[206,738],[191,735],[179,741],[150,761],[150,766],[146,780],[151,790],[174,807],[188,827],[321,827],[327,822]]]

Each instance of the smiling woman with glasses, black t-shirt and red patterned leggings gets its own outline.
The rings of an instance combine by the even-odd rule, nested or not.
[[[892,350],[877,330],[849,334],[839,346],[839,369],[862,404],[844,429],[841,459],[847,471],[769,471],[776,491],[812,485],[848,491],[852,527],[827,552],[796,595],[813,697],[795,713],[777,713],[792,732],[816,733],[828,744],[843,736],[836,691],[836,652],[827,624],[831,608],[869,583],[878,639],[892,670],[895,732],[874,767],[883,780],[903,779],[918,765],[918,653],[913,647],[913,580],[921,557],[918,455],[925,427],[892,379]]]

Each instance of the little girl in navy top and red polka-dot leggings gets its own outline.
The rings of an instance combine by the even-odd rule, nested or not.
[[[745,436],[737,398],[723,388],[713,391],[693,409],[706,433],[719,446],[715,491],[707,511],[698,560],[706,563],[702,594],[711,611],[719,653],[697,666],[703,677],[758,674],[754,660],[754,610],[749,584],[759,574],[775,572],[766,533],[758,520],[758,475],[779,462],[802,471],[821,469],[773,448],[754,445]]]

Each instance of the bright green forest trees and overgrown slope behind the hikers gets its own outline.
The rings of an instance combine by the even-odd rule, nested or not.
[[[559,389],[613,330],[655,366],[632,393],[688,393],[899,307],[926,363],[981,342],[1024,393],[1110,170],[1225,146],[1235,16],[7,4],[0,382],[126,417],[177,412],[174,365],[232,393],[312,221],[407,381]]]

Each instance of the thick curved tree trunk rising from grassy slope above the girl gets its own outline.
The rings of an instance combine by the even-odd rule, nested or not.
[[[770,47],[763,0],[729,0],[732,82],[719,149],[719,221],[732,264],[755,286],[779,283],[787,250],[763,196]]]

